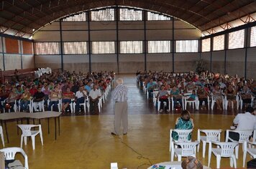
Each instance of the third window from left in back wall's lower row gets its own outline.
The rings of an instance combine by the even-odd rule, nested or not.
[[[114,54],[114,42],[92,42],[93,54]]]

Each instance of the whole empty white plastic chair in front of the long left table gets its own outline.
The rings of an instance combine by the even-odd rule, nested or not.
[[[27,145],[27,137],[31,137],[32,148],[33,148],[33,150],[35,150],[35,136],[38,134],[40,134],[41,143],[43,145],[41,125],[18,125],[18,126],[22,130],[21,143],[20,143],[21,148],[22,148],[22,144],[23,144],[23,137],[24,137],[25,145]],[[32,127],[39,127],[39,130],[31,130]]]

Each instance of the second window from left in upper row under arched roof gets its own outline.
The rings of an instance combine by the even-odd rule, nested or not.
[[[92,21],[114,21],[114,9],[91,11]]]

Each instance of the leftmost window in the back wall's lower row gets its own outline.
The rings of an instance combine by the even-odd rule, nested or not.
[[[35,54],[60,54],[58,42],[35,42]]]

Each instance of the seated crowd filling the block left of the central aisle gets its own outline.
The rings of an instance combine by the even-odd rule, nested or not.
[[[81,111],[79,104],[85,101],[85,97],[91,100],[93,108],[96,100],[105,92],[113,78],[114,72],[90,74],[64,71],[42,74],[39,78],[27,77],[12,82],[0,82],[0,111],[14,112],[19,107],[19,111],[24,112],[28,112],[29,109],[37,111],[38,108],[39,111],[65,112],[70,110],[69,105],[72,100],[76,102],[76,112],[78,112]],[[34,109],[29,107],[30,102],[33,102]],[[60,102],[62,107],[58,108]]]

